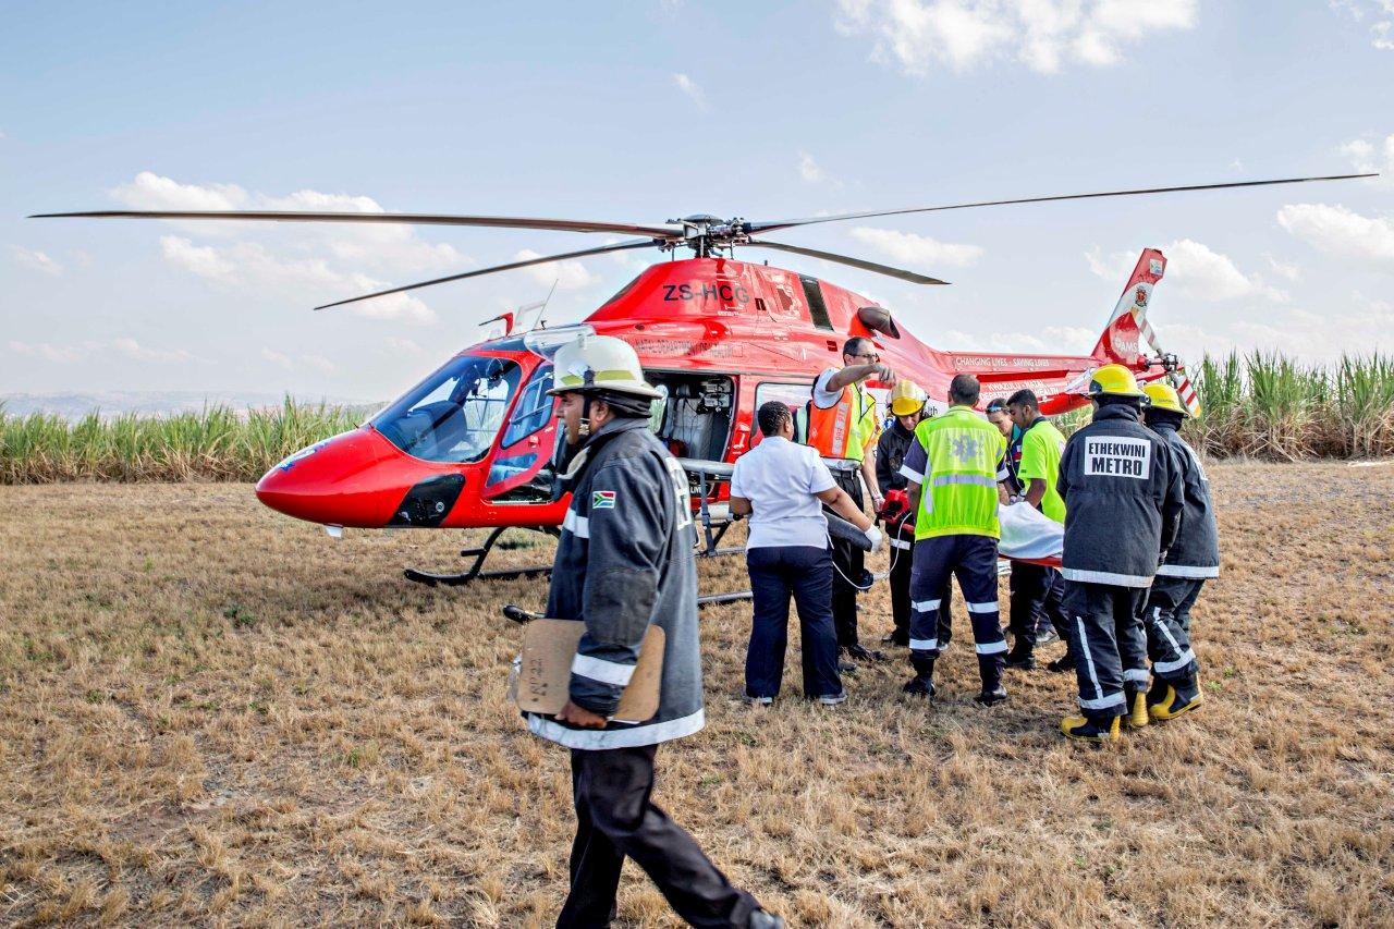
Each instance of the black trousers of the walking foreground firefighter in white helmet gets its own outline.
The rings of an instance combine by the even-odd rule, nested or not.
[[[615,918],[615,891],[626,858],[658,884],[679,916],[694,926],[747,926],[760,908],[730,886],[687,831],[654,806],[657,745],[572,749],[576,841],[572,893],[558,926],[591,929]]]

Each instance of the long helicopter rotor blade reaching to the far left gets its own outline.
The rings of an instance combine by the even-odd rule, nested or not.
[[[454,213],[351,213],[262,209],[98,209],[77,213],[35,213],[29,219],[250,219],[282,223],[401,223],[408,226],[493,226],[500,229],[553,229],[560,232],[611,233],[682,239],[682,229],[588,219],[538,219],[528,216],[461,216]]]

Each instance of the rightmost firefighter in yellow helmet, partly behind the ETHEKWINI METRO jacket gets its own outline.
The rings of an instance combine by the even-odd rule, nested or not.
[[[1185,490],[1181,531],[1167,550],[1167,561],[1157,569],[1143,611],[1153,675],[1147,709],[1153,720],[1174,720],[1203,700],[1197,681],[1200,668],[1190,650],[1190,607],[1206,580],[1220,576],[1220,531],[1206,469],[1177,431],[1189,416],[1177,388],[1149,384],[1143,392],[1151,400],[1143,418],[1175,453]]]

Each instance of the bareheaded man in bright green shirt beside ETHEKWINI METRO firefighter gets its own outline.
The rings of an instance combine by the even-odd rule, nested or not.
[[[1020,431],[1020,438],[1013,445],[1020,448],[1015,473],[1022,488],[1022,502],[1064,526],[1065,501],[1055,487],[1059,483],[1059,456],[1065,451],[1065,437],[1041,416],[1040,400],[1032,391],[1022,389],[1008,398],[1006,416]],[[1012,649],[1006,653],[1006,667],[1030,671],[1036,667],[1034,651],[1041,619],[1048,619],[1061,639],[1066,637],[1069,621],[1064,607],[1065,579],[1054,568],[1013,561],[1011,591],[1006,629],[1012,633]],[[1057,672],[1073,671],[1075,657],[1066,649],[1065,656],[1051,661],[1048,667]]]

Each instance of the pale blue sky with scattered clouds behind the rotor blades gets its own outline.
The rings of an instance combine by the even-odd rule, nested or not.
[[[1394,0],[10,3],[6,21],[0,392],[386,398],[553,279],[560,322],[645,261],[315,314],[601,240],[22,219],[123,205],[778,219],[1373,169],[779,236],[952,287],[779,264],[931,345],[1083,352],[1157,246],[1168,349],[1394,350]]]

